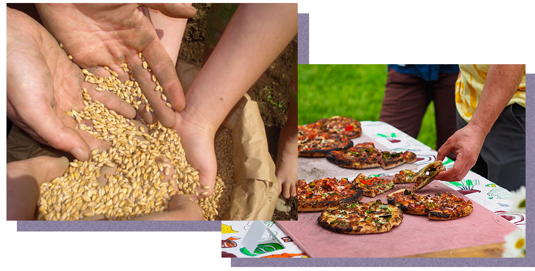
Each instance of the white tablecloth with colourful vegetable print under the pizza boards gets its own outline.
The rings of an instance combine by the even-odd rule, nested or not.
[[[418,170],[433,162],[437,157],[437,151],[427,147],[422,142],[410,137],[408,134],[396,129],[384,122],[362,122],[362,132],[377,140],[385,147],[394,152],[409,150],[417,156],[415,162]],[[446,158],[444,166],[452,168],[454,161]],[[518,227],[525,228],[525,213],[510,212],[511,193],[492,181],[487,180],[475,172],[468,172],[460,182],[445,182],[450,188],[457,190],[485,208],[507,219]],[[263,221],[276,236],[270,236],[268,232],[262,237],[261,244],[253,253],[247,251],[241,245],[242,238],[247,234],[253,221],[221,221],[221,257],[255,257],[255,258],[286,258],[307,257],[303,251],[295,245],[291,238],[284,233],[274,221]],[[272,238],[279,238],[285,245],[284,248]]]

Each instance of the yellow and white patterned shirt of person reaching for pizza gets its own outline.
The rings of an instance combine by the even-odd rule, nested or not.
[[[455,83],[455,103],[457,111],[467,122],[470,122],[473,112],[476,110],[490,66],[490,64],[459,64],[461,77]],[[513,103],[526,107],[525,71],[522,81],[518,85],[518,90],[507,105],[512,105]]]

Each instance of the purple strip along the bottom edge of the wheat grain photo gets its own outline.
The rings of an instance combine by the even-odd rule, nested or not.
[[[219,232],[221,221],[17,221],[17,232]]]

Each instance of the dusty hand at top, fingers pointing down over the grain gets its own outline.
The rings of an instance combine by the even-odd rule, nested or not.
[[[196,10],[185,4],[143,4],[173,18],[190,18]],[[116,71],[121,81],[128,79],[119,65],[128,64],[154,113],[140,110],[150,123],[158,119],[164,126],[175,122],[174,112],[184,109],[184,93],[178,81],[173,61],[160,42],[156,30],[143,12],[141,4],[36,4],[44,26],[63,43],[65,51],[82,68],[108,66]],[[152,73],[164,89],[172,105],[165,105],[156,84],[143,61],[142,52]],[[98,74],[93,72],[94,74]],[[157,117],[157,118],[156,118]]]

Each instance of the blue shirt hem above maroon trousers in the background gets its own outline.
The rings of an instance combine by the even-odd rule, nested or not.
[[[454,74],[459,72],[458,64],[388,64],[400,74],[410,74],[425,81],[437,81],[438,74]],[[387,68],[387,70],[388,70]]]

